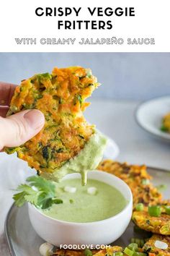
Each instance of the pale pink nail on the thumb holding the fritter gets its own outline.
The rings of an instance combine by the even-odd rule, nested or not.
[[[26,119],[32,129],[39,129],[45,121],[44,115],[37,109],[32,109],[24,114],[24,119]]]

